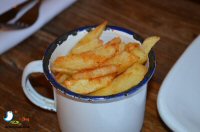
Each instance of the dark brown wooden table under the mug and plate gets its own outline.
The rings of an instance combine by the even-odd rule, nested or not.
[[[72,29],[108,20],[142,37],[158,35],[154,51],[155,75],[148,86],[142,131],[170,131],[159,117],[157,95],[160,85],[179,56],[200,33],[200,2],[197,0],[80,0],[64,10],[31,37],[0,55],[0,131],[60,131],[56,113],[38,108],[24,95],[22,71],[27,63],[41,59],[58,36]],[[11,38],[12,39],[12,38]],[[42,95],[53,97],[51,86],[41,74],[31,82]],[[8,110],[30,117],[30,128],[5,128],[2,117]]]

